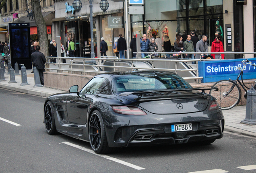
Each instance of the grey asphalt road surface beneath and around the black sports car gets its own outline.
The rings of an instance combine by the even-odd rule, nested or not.
[[[87,142],[46,133],[44,101],[0,89],[1,173],[256,172],[256,138],[227,132],[208,146],[128,147],[95,155]]]

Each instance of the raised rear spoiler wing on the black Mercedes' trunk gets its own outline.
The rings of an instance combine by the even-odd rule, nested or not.
[[[141,97],[142,94],[145,93],[161,93],[161,92],[168,92],[168,91],[194,91],[194,90],[200,90],[202,91],[202,94],[205,93],[205,91],[209,91],[209,90],[214,90],[214,91],[219,91],[218,88],[210,88],[210,89],[200,89],[200,88],[191,88],[191,89],[165,89],[165,90],[149,90],[149,91],[136,91],[136,92],[124,92],[121,93],[120,96],[128,96],[128,95],[132,95],[132,94],[139,94]]]

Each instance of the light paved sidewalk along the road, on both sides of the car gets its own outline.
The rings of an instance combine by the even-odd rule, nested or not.
[[[7,70],[6,70],[7,71]],[[17,83],[8,83],[10,81],[10,75],[4,74],[4,82],[0,82],[0,88],[9,89],[12,91],[17,91],[20,93],[37,95],[41,97],[49,97],[50,95],[56,93],[65,93],[66,91],[52,89],[48,87],[33,87],[35,85],[34,74],[31,73],[32,70],[27,70],[27,82],[30,85],[20,86],[21,75],[15,76]],[[21,70],[19,70],[21,74]],[[256,137],[256,125],[246,125],[240,123],[240,121],[246,118],[246,106],[237,106],[227,111],[222,111],[225,117],[225,127],[224,131],[229,131],[233,133],[238,133],[242,135],[248,135]]]

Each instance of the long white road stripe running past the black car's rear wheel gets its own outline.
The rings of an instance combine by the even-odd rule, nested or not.
[[[145,168],[142,168],[142,167],[133,165],[133,164],[131,164],[131,163],[128,163],[128,162],[125,162],[125,161],[116,159],[116,158],[114,158],[114,157],[110,157],[110,156],[107,156],[107,155],[99,155],[99,154],[95,153],[95,152],[94,152],[93,150],[91,150],[91,149],[87,149],[87,148],[85,148],[85,147],[81,147],[81,146],[76,145],[76,144],[72,144],[72,143],[69,143],[69,142],[62,142],[62,143],[66,144],[66,145],[70,145],[70,146],[75,147],[75,148],[78,148],[78,149],[81,149],[81,150],[86,151],[86,152],[88,152],[88,153],[92,153],[92,154],[94,154],[94,155],[103,157],[103,158],[105,158],[105,159],[109,159],[109,160],[111,160],[111,161],[120,163],[120,164],[122,164],[122,165],[126,165],[126,166],[128,166],[128,167],[131,167],[131,168],[134,168],[134,169],[137,169],[137,170],[145,169]],[[224,173],[224,172],[223,172],[223,173]]]

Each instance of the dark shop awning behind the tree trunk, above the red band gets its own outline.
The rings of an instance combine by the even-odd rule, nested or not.
[[[43,19],[45,21],[45,24],[48,26],[52,25],[52,19],[55,18],[55,14],[53,11],[50,12],[43,12]],[[27,16],[20,17],[20,20],[17,20],[15,23],[29,23],[29,26],[36,26],[35,19],[31,20]]]

